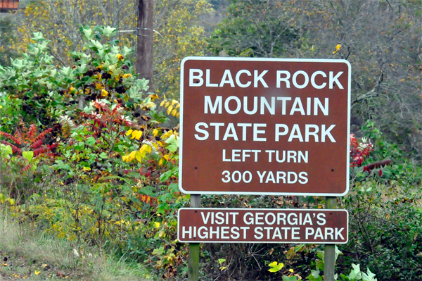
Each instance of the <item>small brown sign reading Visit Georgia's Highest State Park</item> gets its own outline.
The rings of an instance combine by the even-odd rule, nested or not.
[[[179,242],[345,244],[346,210],[180,208]]]

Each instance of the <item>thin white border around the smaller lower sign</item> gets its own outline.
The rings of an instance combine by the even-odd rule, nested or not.
[[[309,241],[283,241],[283,242],[267,242],[267,241],[200,241],[195,239],[182,240],[179,237],[179,225],[180,225],[180,211],[181,210],[212,210],[218,212],[219,210],[253,210],[253,211],[324,211],[324,212],[346,212],[347,213],[347,231],[346,231],[346,240],[345,242],[309,242]],[[253,244],[286,244],[286,243],[295,243],[295,244],[347,244],[349,242],[349,211],[343,209],[327,209],[327,208],[179,208],[177,211],[177,241],[180,243],[253,243]]]

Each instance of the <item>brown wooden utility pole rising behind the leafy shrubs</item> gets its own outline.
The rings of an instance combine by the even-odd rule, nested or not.
[[[153,0],[139,0],[136,73],[139,78],[149,80],[150,89],[153,85],[153,9]]]

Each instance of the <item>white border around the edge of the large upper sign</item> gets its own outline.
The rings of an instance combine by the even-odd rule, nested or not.
[[[346,190],[343,193],[314,193],[314,192],[206,192],[206,191],[188,191],[182,187],[182,155],[183,155],[183,108],[184,108],[184,63],[189,60],[200,61],[282,61],[295,63],[346,63],[349,68],[349,77],[347,85],[347,144],[350,143],[350,96],[352,84],[352,65],[344,59],[324,59],[324,58],[234,58],[234,57],[208,57],[208,56],[187,56],[181,61],[180,65],[180,137],[179,137],[179,189],[184,194],[233,194],[233,195],[290,195],[290,196],[345,196],[349,192],[350,185],[350,147],[347,145],[346,151]]]

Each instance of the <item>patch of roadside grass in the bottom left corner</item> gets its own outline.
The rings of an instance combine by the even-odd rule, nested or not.
[[[73,249],[79,257],[75,257]],[[0,209],[0,280],[151,280],[151,273],[87,244],[73,245],[20,224]]]

